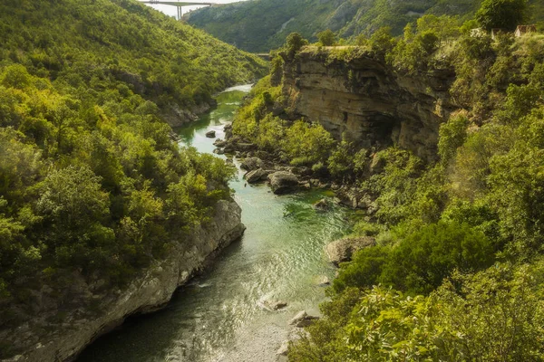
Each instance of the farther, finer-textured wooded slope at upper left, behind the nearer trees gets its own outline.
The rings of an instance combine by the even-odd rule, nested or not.
[[[136,1],[7,0],[0,10],[4,63],[22,63],[74,88],[109,77],[160,108],[209,102],[212,93],[264,69],[258,59]]]

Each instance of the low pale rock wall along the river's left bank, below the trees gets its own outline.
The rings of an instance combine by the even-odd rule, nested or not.
[[[122,290],[88,285],[83,278],[75,278],[66,288],[77,291],[73,294],[73,304],[86,307],[66,308],[44,302],[36,307],[34,319],[15,331],[0,329],[3,343],[24,350],[5,361],[68,360],[94,338],[121,325],[126,317],[160,309],[216,252],[242,235],[245,226],[240,222],[240,215],[241,210],[234,201],[219,201],[208,224],[199,226],[187,240],[173,245],[165,260],[155,262]],[[48,298],[47,293],[44,287],[44,300]]]

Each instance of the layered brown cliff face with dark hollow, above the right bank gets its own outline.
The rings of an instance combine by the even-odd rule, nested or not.
[[[363,48],[306,47],[284,65],[283,95],[293,118],[319,122],[336,139],[393,143],[432,160],[440,124],[458,110],[448,92],[454,75],[402,75]]]

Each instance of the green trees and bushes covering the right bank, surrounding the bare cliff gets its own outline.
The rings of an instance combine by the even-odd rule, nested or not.
[[[485,3],[481,23],[500,13],[488,11],[496,0]],[[423,79],[454,71],[450,95],[461,110],[442,124],[431,164],[394,146],[370,157],[319,124],[289,119],[288,109],[280,117],[282,63],[307,43],[296,33],[239,110],[235,135],[373,200],[354,235],[376,246],[341,264],[325,318],[292,342],[289,360],[544,358],[544,35],[493,40],[471,35],[477,26],[425,15],[400,37],[382,29],[329,50],[331,62],[364,52]],[[369,173],[376,159],[383,167]]]

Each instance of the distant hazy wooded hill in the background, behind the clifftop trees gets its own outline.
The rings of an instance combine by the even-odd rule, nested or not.
[[[310,41],[332,29],[343,38],[371,35],[389,26],[394,35],[423,14],[470,18],[481,1],[475,0],[251,0],[191,12],[189,24],[248,52],[268,52],[281,46],[292,32]],[[544,21],[544,5],[531,0],[529,22]]]

